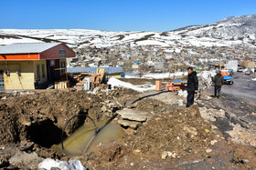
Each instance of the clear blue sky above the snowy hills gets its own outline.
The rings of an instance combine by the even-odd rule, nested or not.
[[[0,0],[0,5],[0,29],[163,32],[256,14],[256,0]]]

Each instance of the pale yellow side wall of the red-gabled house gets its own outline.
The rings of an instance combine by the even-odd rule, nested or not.
[[[4,74],[5,90],[35,89],[33,61],[3,61],[0,70],[6,72],[6,65],[10,74]]]

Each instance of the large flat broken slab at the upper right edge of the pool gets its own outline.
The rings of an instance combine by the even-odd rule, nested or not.
[[[123,119],[138,121],[138,122],[145,122],[150,114],[144,111],[138,111],[133,109],[123,109],[116,112],[117,114],[121,115]]]

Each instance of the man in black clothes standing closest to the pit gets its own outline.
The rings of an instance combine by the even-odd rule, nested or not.
[[[198,80],[197,72],[193,71],[192,67],[187,68],[187,107],[194,104],[194,95],[197,94]]]

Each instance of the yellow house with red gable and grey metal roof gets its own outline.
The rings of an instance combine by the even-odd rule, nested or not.
[[[12,44],[0,47],[0,90],[35,89],[65,76],[66,58],[75,57],[61,43]],[[59,69],[62,68],[62,69]]]

